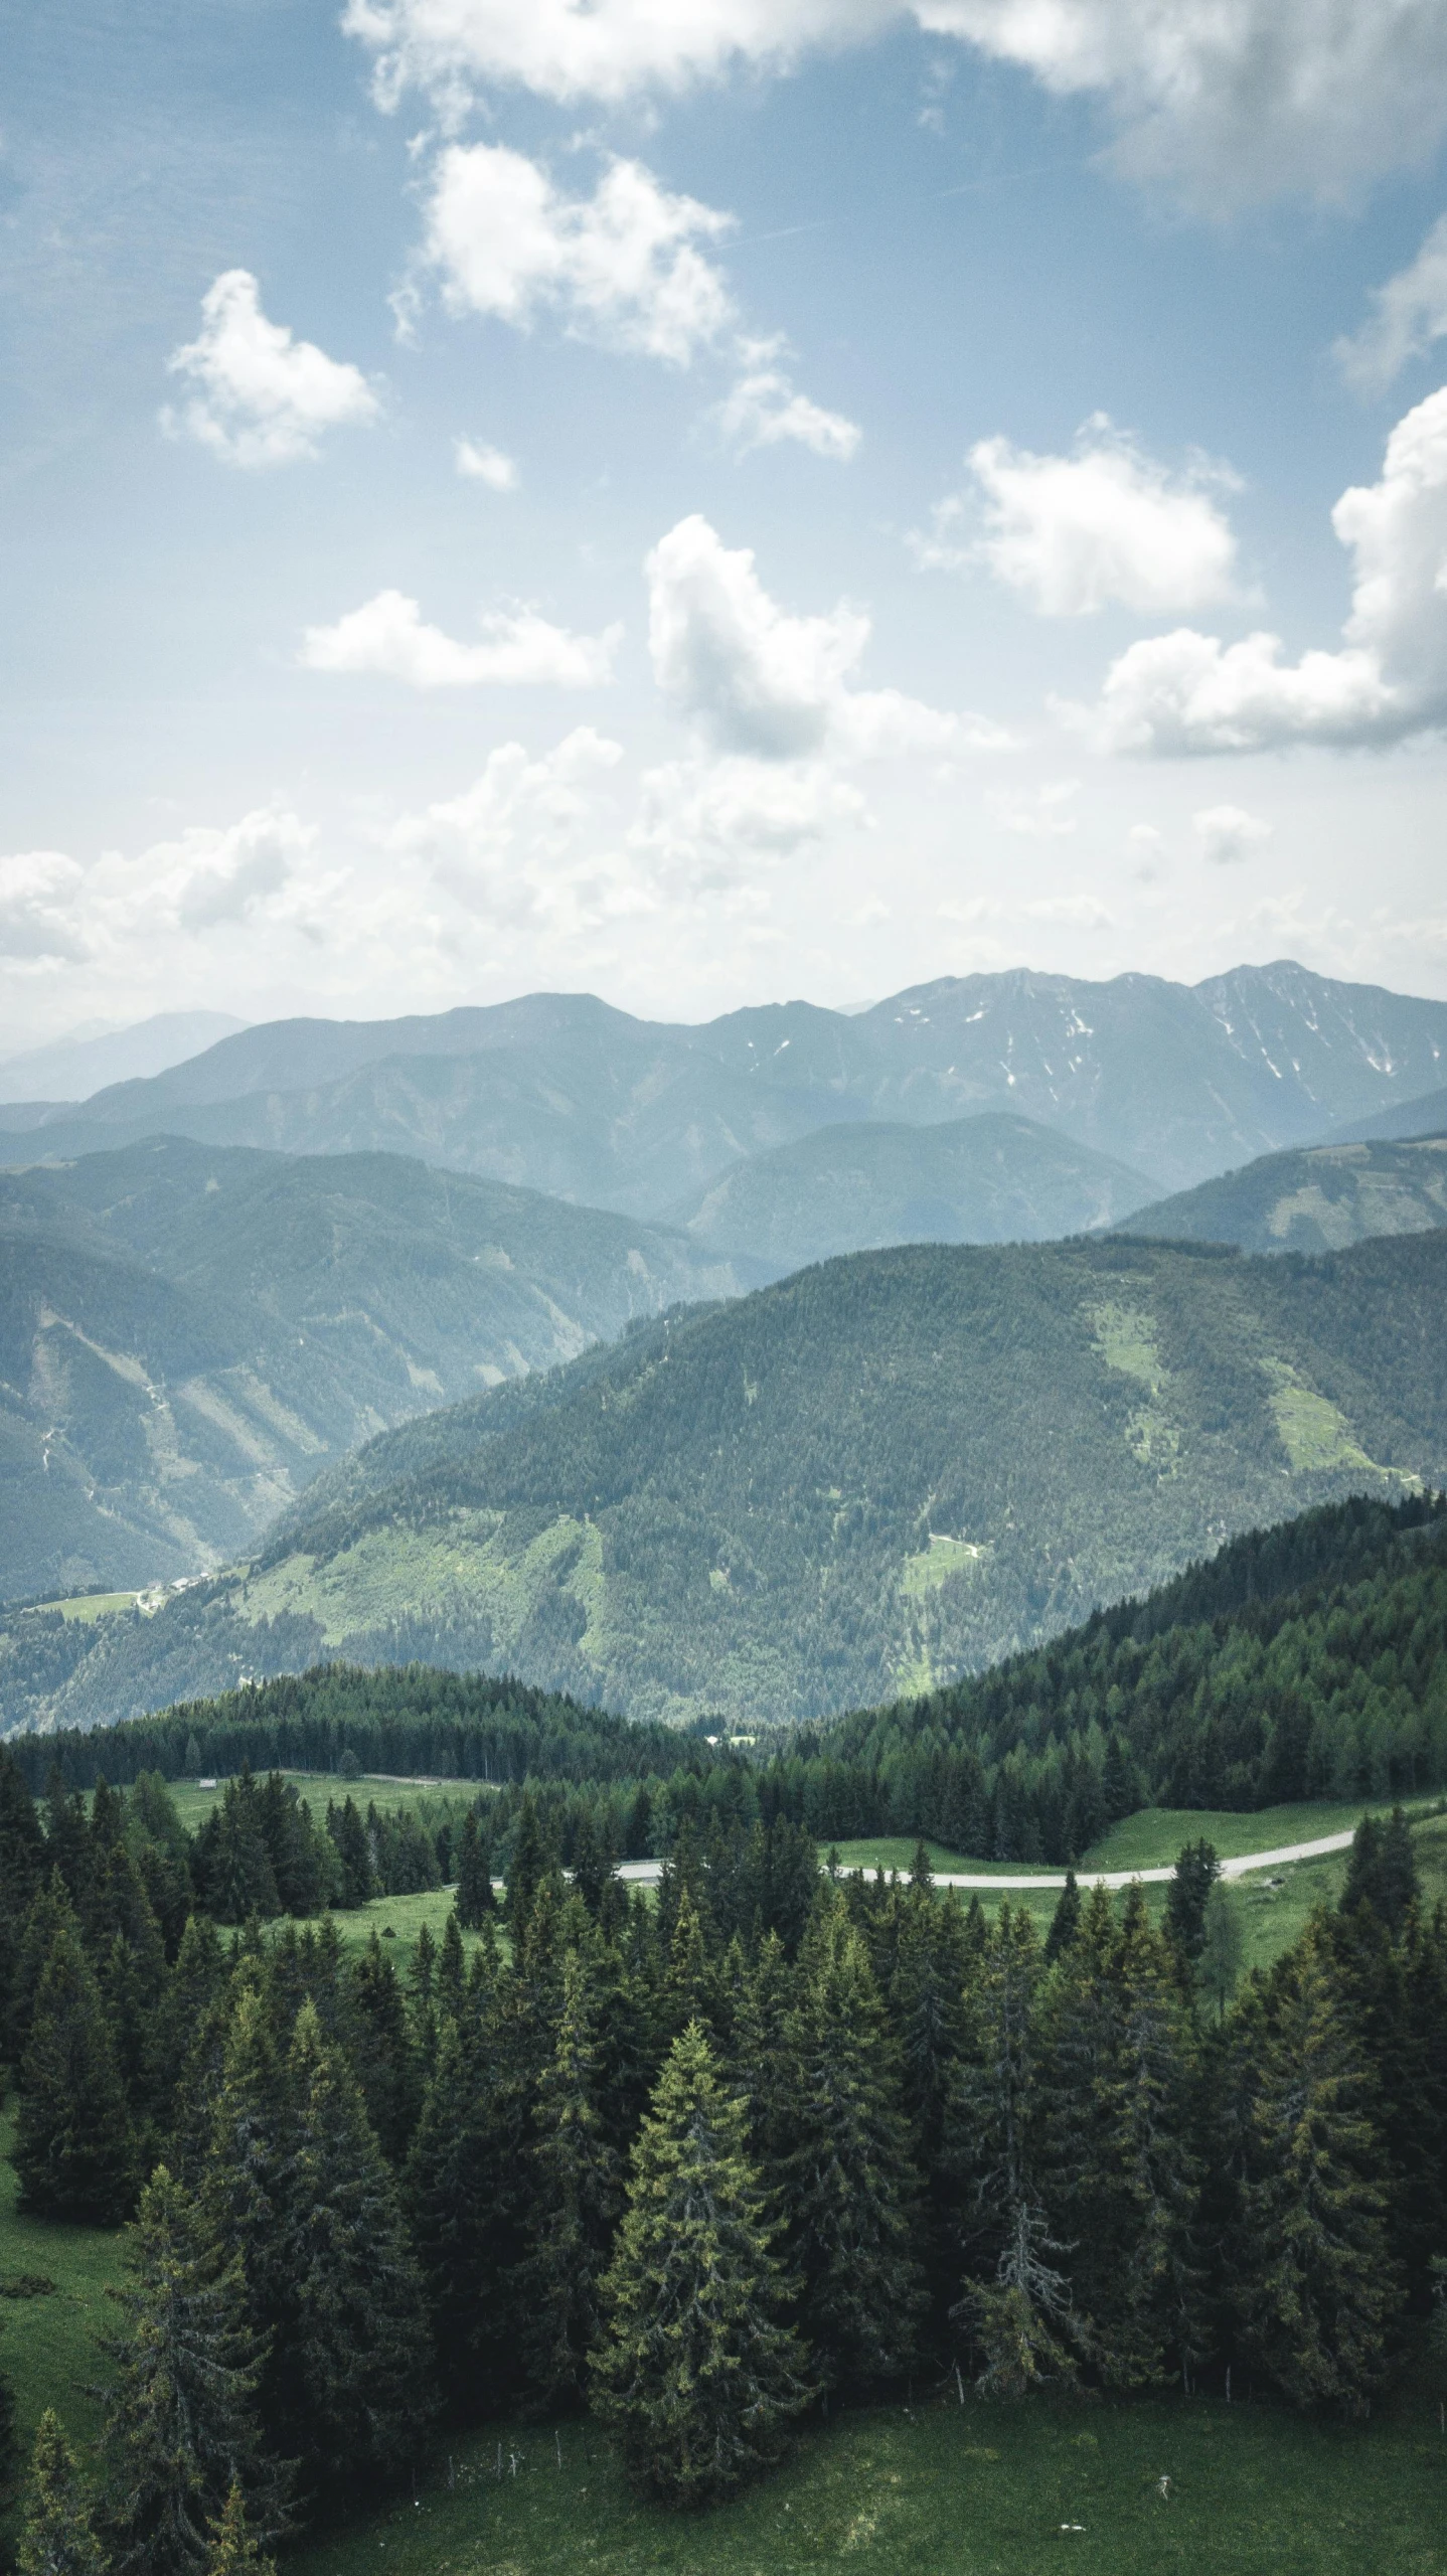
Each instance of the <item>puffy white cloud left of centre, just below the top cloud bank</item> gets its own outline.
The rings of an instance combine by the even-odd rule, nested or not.
[[[507,144],[448,144],[435,162],[422,260],[451,312],[528,330],[541,312],[602,348],[687,366],[734,319],[703,255],[731,216],[669,196],[641,162],[615,160],[590,198],[564,198]]]

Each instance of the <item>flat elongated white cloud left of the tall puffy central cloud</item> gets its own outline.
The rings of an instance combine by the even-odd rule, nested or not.
[[[384,672],[409,688],[602,688],[613,677],[621,626],[600,636],[574,636],[536,608],[492,611],[481,644],[458,644],[440,626],[425,626],[417,600],[378,590],[335,626],[309,626],[301,644],[306,670]]]

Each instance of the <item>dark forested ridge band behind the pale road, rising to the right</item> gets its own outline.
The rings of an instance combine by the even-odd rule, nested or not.
[[[142,1772],[422,1772],[479,1783],[505,1870],[525,1793],[579,1837],[664,1857],[788,1821],[816,1842],[927,1834],[981,1860],[1079,1860],[1146,1803],[1259,1808],[1447,1785],[1447,1499],[1354,1497],[1246,1533],[1143,1600],[953,1690],[749,1741],[639,1726],[412,1667],[337,1664],[157,1718],[15,1736],[31,1790]],[[232,1917],[239,1919],[239,1917]]]

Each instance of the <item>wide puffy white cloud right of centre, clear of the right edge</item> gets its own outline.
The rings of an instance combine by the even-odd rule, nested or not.
[[[984,564],[1048,618],[1236,595],[1236,538],[1210,497],[1220,466],[1172,477],[1105,415],[1087,420],[1074,456],[981,438],[968,466],[973,495],[940,502],[932,533],[914,541],[927,567]]]

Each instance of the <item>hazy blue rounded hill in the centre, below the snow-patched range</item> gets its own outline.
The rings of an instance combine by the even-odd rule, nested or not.
[[[940,1126],[829,1126],[749,1154],[680,1208],[708,1252],[783,1278],[883,1244],[1009,1244],[1092,1234],[1151,1195],[1141,1172],[1002,1110]]]

